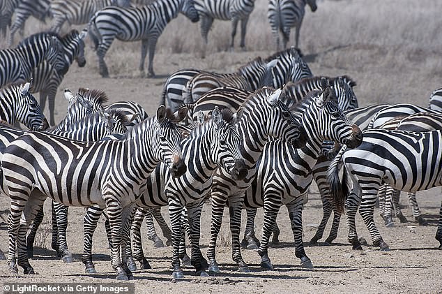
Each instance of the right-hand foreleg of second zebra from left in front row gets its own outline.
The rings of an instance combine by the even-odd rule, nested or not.
[[[204,201],[188,207],[188,221],[190,227],[189,239],[192,244],[192,258],[190,263],[195,267],[195,275],[199,277],[208,277],[207,260],[203,257],[199,249],[200,230],[201,230],[201,210]]]

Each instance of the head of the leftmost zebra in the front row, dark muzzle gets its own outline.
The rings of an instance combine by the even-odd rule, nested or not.
[[[187,115],[187,109],[181,108],[177,115],[172,115],[169,109],[161,105],[156,114],[155,129],[153,131],[152,152],[156,154],[171,171],[173,177],[180,177],[187,170],[181,152],[181,122]]]

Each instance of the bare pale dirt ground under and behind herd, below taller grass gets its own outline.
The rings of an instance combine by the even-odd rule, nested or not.
[[[323,17],[320,13],[321,11],[318,10],[315,20]],[[251,34],[253,30],[253,27],[250,27]],[[266,34],[266,38],[268,42],[271,42],[269,34]],[[88,64],[84,68],[78,68],[74,64],[59,87],[56,97],[56,121],[61,120],[66,113],[67,103],[62,95],[64,88],[72,91],[77,91],[79,87],[102,89],[107,92],[110,102],[136,101],[146,108],[149,115],[154,115],[160,100],[163,82],[168,75],[179,68],[195,67],[231,72],[254,57],[268,57],[273,53],[270,50],[253,51],[250,46],[246,52],[212,52],[205,59],[201,59],[192,52],[171,53],[169,50],[158,50],[154,61],[155,73],[158,76],[142,78],[137,69],[139,43],[130,45],[130,50],[126,52],[122,50],[124,44],[116,42],[106,57],[110,78],[102,79],[98,74],[96,55],[91,51],[89,41],[87,44]],[[425,58],[440,58],[440,55],[434,52],[409,54],[407,55],[410,57],[409,60],[399,65],[402,55],[399,58],[389,53],[386,58],[384,55],[390,51],[384,51],[383,48],[372,45],[369,41],[353,45],[323,45],[323,47],[314,47],[314,50],[307,46],[303,50],[305,59],[315,75],[346,74],[356,80],[358,86],[355,88],[355,93],[360,106],[380,102],[411,102],[427,105],[429,94],[436,87],[441,87],[440,68],[431,75],[429,73],[425,75],[422,74],[425,69],[420,67],[425,64]],[[47,110],[45,113],[48,115]],[[321,201],[319,194],[315,191],[315,186],[313,186],[310,200],[303,211],[305,242],[314,235],[322,217]],[[440,188],[418,193],[418,203],[429,221],[429,226],[418,226],[417,223],[412,222],[413,218],[411,210],[407,207],[406,197],[401,199],[401,204],[405,207],[404,214],[411,221],[410,223],[397,222],[395,228],[386,228],[379,217],[379,210],[375,210],[375,221],[383,239],[390,245],[391,251],[388,252],[372,247],[364,247],[363,251],[352,251],[346,241],[343,218],[339,235],[333,246],[307,247],[305,244],[306,253],[312,260],[314,270],[304,270],[299,267],[300,262],[294,256],[293,235],[287,210],[284,207],[278,215],[282,244],[269,249],[270,258],[275,266],[273,271],[261,270],[259,255],[256,251],[250,250],[243,250],[243,257],[250,265],[252,272],[243,274],[237,271],[236,265],[231,260],[228,216],[227,212],[224,212],[217,250],[222,274],[203,279],[195,277],[191,267],[185,267],[185,279],[172,281],[170,267],[172,248],[155,249],[145,237],[144,227],[144,251],[153,269],[135,272],[135,280],[130,283],[135,284],[136,293],[442,293],[442,251],[437,249],[439,242],[434,239],[441,207],[440,194]],[[1,196],[0,205],[0,248],[7,251],[8,198]],[[47,201],[45,203],[46,219],[42,225],[43,229],[38,234],[39,246],[35,250],[35,257],[31,260],[31,265],[38,274],[9,274],[6,261],[0,260],[0,281],[3,283],[116,282],[109,262],[109,249],[107,249],[102,220],[94,235],[93,247],[95,253],[93,258],[96,260],[98,274],[85,274],[84,265],[81,262],[83,208],[73,207],[69,211],[68,244],[74,254],[75,262],[65,264],[56,258],[54,251],[50,249],[49,207],[49,201]],[[201,220],[203,254],[206,253],[210,237],[210,216],[210,207],[206,206]],[[357,221],[359,235],[365,237],[370,244],[368,231],[359,215]],[[243,226],[244,224],[243,221]],[[262,214],[259,212],[258,233],[261,225]],[[323,240],[327,237],[328,230],[329,226]]]

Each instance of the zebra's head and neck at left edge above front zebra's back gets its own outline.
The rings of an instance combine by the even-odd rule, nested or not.
[[[26,82],[0,89],[0,120],[10,125],[21,122],[33,131],[45,130],[49,124],[29,87],[30,82]]]

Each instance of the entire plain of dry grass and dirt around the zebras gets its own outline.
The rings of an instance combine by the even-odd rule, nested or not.
[[[306,8],[300,49],[314,75],[345,74],[356,80],[358,85],[354,91],[360,106],[402,102],[426,106],[432,91],[442,87],[442,1],[318,0],[317,5],[315,13]],[[156,78],[144,78],[139,73],[139,42],[115,41],[105,57],[110,78],[102,79],[98,74],[98,59],[88,40],[86,66],[79,68],[73,64],[59,88],[56,121],[66,113],[67,103],[62,95],[64,88],[72,91],[77,91],[79,87],[102,89],[107,92],[111,102],[136,101],[146,108],[149,115],[154,115],[162,84],[174,71],[192,67],[227,73],[236,71],[255,57],[268,57],[275,52],[275,48],[266,10],[267,2],[257,0],[247,27],[245,52],[239,50],[238,45],[234,52],[227,51],[231,24],[216,20],[204,52],[199,24],[192,24],[180,15],[166,27],[158,41],[154,59]],[[29,20],[25,34],[42,31],[49,25],[50,20],[46,24]],[[76,28],[82,29],[82,26]],[[64,27],[64,31],[68,29]],[[239,43],[238,36],[239,31],[236,44]],[[292,45],[294,31],[290,38]],[[0,47],[5,44],[5,41],[0,41]],[[395,228],[386,228],[375,210],[378,228],[392,249],[389,252],[377,251],[372,247],[364,247],[363,252],[352,251],[346,242],[345,221],[342,219],[337,244],[332,247],[307,247],[307,255],[315,269],[303,270],[294,256],[293,235],[287,211],[283,208],[278,216],[282,246],[269,250],[275,270],[260,270],[258,254],[243,250],[244,259],[252,272],[241,274],[231,260],[228,216],[224,213],[217,253],[223,270],[219,277],[194,277],[192,268],[187,267],[183,281],[171,281],[172,249],[154,249],[151,242],[146,240],[145,253],[154,268],[135,272],[135,281],[130,282],[135,283],[136,293],[442,293],[442,252],[436,249],[439,242],[434,239],[441,205],[440,191],[436,188],[418,193],[421,210],[430,223],[426,227],[420,227],[417,223],[397,223]],[[401,201],[406,206],[406,197]],[[0,203],[3,207],[1,216],[6,219],[8,198],[0,198]],[[50,215],[48,203],[45,207],[47,215]],[[312,193],[303,212],[305,242],[314,235],[321,211],[319,195]],[[407,207],[404,213],[408,219],[412,219]],[[81,207],[70,210],[68,244],[76,258],[75,263],[64,264],[55,257],[50,249],[50,224],[46,219],[39,235],[40,247],[36,249],[36,257],[31,260],[38,274],[8,274],[6,261],[0,261],[0,281],[114,282],[114,272],[108,261],[107,240],[101,225],[94,237],[93,249],[99,273],[91,276],[84,274],[81,262],[82,216]],[[257,220],[259,233],[262,214]],[[205,254],[210,237],[210,207],[205,207],[201,223],[201,244]],[[360,216],[358,232],[369,241],[368,231]],[[8,248],[4,220],[0,226],[0,248],[3,251]],[[224,281],[227,277],[230,282]]]

